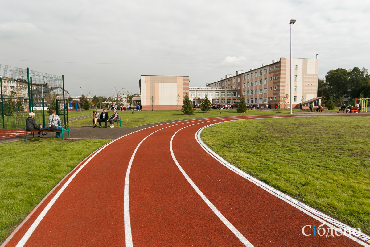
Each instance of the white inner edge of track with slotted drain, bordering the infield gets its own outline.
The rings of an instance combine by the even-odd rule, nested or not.
[[[315,116],[302,116],[302,117],[315,117]],[[257,118],[256,118],[257,119]],[[258,119],[267,119],[267,118],[258,118]],[[250,120],[250,119],[248,119]],[[252,119],[253,120],[253,119]],[[230,120],[230,121],[225,121],[222,123],[226,122],[231,122],[231,121],[238,121],[238,120]],[[311,208],[310,206],[307,206],[304,203],[301,203],[300,201],[295,200],[294,198],[287,196],[286,194],[282,193],[279,190],[276,190],[275,188],[263,183],[262,181],[250,176],[248,173],[245,171],[240,170],[238,167],[233,166],[232,164],[228,163],[225,159],[223,159],[221,156],[216,154],[211,148],[209,148],[205,143],[203,143],[201,139],[201,132],[212,125],[219,124],[219,123],[214,123],[214,124],[209,124],[208,126],[200,128],[196,133],[195,133],[195,140],[199,143],[199,145],[210,155],[212,156],[215,160],[219,161],[219,163],[223,164],[233,172],[237,173],[239,176],[246,178],[247,180],[251,181],[252,183],[256,184],[258,187],[262,188],[263,190],[267,191],[268,193],[272,194],[273,196],[276,196],[277,198],[280,198],[281,200],[285,201],[286,203],[290,204],[291,206],[297,208],[298,210],[302,211],[303,213],[309,215],[310,217],[314,218],[317,221],[320,221],[321,223],[325,224],[326,226],[329,226],[330,228],[335,229],[343,229],[345,231],[350,232],[354,236],[360,238],[363,241],[366,241],[367,243],[370,243],[370,237],[367,236],[366,234],[360,233],[356,231],[355,229],[327,216],[326,214],[323,214],[314,208]],[[333,226],[332,224],[328,223],[327,221],[330,221],[336,226]],[[363,241],[359,240],[356,237],[353,237],[351,234],[348,233],[343,233],[344,236],[349,237],[351,240],[354,240],[355,242],[361,244],[362,246],[367,246],[370,247],[370,245],[364,243]]]

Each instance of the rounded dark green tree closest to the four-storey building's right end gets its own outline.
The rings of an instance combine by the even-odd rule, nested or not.
[[[328,86],[329,97],[333,96],[337,99],[347,95],[349,83],[346,69],[338,68],[327,71],[325,81]]]

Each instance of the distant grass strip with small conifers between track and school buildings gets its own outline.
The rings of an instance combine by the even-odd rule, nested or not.
[[[134,112],[134,113],[132,113]],[[118,111],[121,114],[122,127],[135,127],[144,124],[159,123],[171,120],[186,120],[196,119],[202,117],[230,117],[230,116],[251,116],[251,115],[268,115],[268,114],[288,114],[287,113],[273,113],[272,111],[257,111],[248,110],[247,113],[238,113],[236,109],[223,110],[220,114],[219,110],[211,110],[210,113],[203,113],[201,110],[194,111],[194,115],[182,115],[181,111]],[[108,111],[109,116],[113,111]],[[70,123],[71,127],[92,127],[92,116],[83,119],[75,120]]]

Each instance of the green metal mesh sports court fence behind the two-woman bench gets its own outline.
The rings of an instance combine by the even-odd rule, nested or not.
[[[24,130],[30,112],[35,113],[37,124],[47,126],[48,110],[56,109],[57,100],[68,99],[63,76],[0,64],[0,83],[0,138]],[[63,124],[67,122],[65,111],[63,105],[58,109]]]

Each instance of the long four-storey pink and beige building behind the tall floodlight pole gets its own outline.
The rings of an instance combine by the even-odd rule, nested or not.
[[[226,75],[219,81],[206,84],[206,87],[214,89],[215,92],[232,90],[233,95],[236,94],[238,99],[234,101],[231,97],[225,98],[231,103],[238,102],[240,97],[244,96],[247,104],[271,103],[275,105],[279,102],[279,98],[290,94],[289,67],[290,58],[282,57],[279,61],[272,60],[271,64],[262,64],[261,67],[252,68],[248,72],[236,71],[235,76]],[[317,97],[318,67],[318,55],[316,59],[292,59],[292,108],[299,108],[302,102],[306,106],[309,102],[313,102],[314,105],[320,103],[321,97]],[[217,101],[220,98],[212,100]]]

